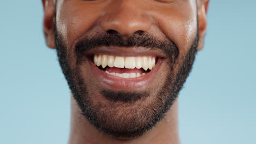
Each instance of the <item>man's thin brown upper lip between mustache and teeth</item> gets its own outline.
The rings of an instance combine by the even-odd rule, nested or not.
[[[165,58],[164,53],[144,47],[101,46],[86,52],[88,55],[105,54],[114,56],[156,56]]]

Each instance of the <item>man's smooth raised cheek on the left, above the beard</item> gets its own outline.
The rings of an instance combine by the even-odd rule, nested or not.
[[[83,1],[66,1],[59,7],[56,15],[58,31],[69,47],[75,41],[95,28],[103,15],[104,5],[88,4]]]

